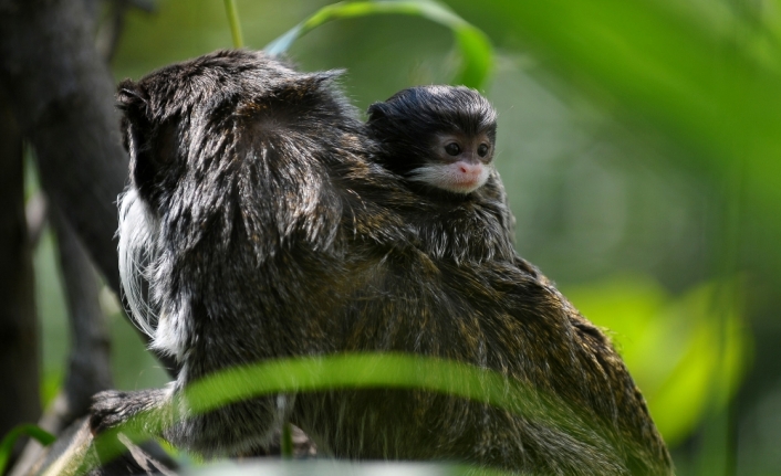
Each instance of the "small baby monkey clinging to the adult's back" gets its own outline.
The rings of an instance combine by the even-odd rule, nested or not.
[[[493,168],[497,113],[480,93],[439,85],[403,89],[368,108],[366,134],[373,160],[400,176],[416,198],[404,215],[430,256],[517,260],[516,221]]]

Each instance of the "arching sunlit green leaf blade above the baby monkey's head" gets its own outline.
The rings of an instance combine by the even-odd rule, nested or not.
[[[433,1],[358,1],[331,4],[269,43],[264,50],[269,54],[278,55],[288,51],[295,40],[324,23],[376,14],[421,17],[450,29],[461,55],[461,65],[454,83],[478,89],[483,87],[493,64],[493,51],[488,36],[444,4]]]

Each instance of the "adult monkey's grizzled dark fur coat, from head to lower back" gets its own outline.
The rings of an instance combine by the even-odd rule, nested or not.
[[[181,371],[165,390],[96,395],[93,429],[152,409],[174,444],[236,455],[289,417],[340,457],[669,474],[607,339],[512,252],[499,181],[454,211],[412,192],[373,160],[333,76],[233,51],[122,84],[132,156],[123,283],[135,318]],[[442,219],[435,228],[408,219],[427,213]],[[560,416],[412,390],[301,393],[288,405],[258,398],[201,416],[178,399],[230,366],[344,351],[491,369],[504,391],[530,389],[518,409],[553,399]]]

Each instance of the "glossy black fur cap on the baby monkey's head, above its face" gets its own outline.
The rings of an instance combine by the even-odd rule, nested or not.
[[[496,142],[497,113],[475,89],[417,86],[369,106],[366,125],[383,149],[383,165],[406,177],[430,160],[431,139],[440,133],[486,133]]]

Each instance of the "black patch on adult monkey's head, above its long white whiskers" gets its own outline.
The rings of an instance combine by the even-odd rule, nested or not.
[[[123,146],[131,156],[131,180],[147,201],[154,200],[156,178],[173,160],[175,129],[155,117],[147,92],[125,80],[117,91],[117,107],[123,112]]]

